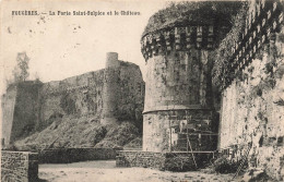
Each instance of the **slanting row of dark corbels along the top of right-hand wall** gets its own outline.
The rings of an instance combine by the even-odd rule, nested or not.
[[[275,41],[275,33],[280,33],[283,25],[283,5],[277,1],[250,1],[247,11],[239,13],[236,24],[222,41],[218,51],[225,53],[214,65],[213,83],[221,90],[256,59],[264,45]]]

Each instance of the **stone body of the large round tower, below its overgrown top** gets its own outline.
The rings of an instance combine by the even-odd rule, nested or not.
[[[210,144],[213,104],[209,58],[213,45],[204,34],[212,26],[173,27],[142,37],[146,60],[143,150],[213,149]],[[206,35],[205,37],[210,37]],[[216,141],[216,139],[215,139]],[[209,143],[209,144],[206,144]]]

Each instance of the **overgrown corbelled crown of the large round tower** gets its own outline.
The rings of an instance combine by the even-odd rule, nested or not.
[[[191,48],[216,48],[241,5],[242,2],[185,2],[161,10],[150,19],[142,35],[144,59]]]

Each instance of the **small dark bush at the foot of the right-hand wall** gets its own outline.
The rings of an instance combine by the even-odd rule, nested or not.
[[[237,171],[239,163],[232,162],[226,157],[221,157],[214,161],[213,166],[218,173],[234,173]]]

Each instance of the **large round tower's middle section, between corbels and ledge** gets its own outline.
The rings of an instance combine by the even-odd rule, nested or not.
[[[211,106],[209,70],[212,60],[206,50],[171,51],[146,62],[144,112],[153,110],[209,108]],[[184,108],[182,108],[184,109]]]

